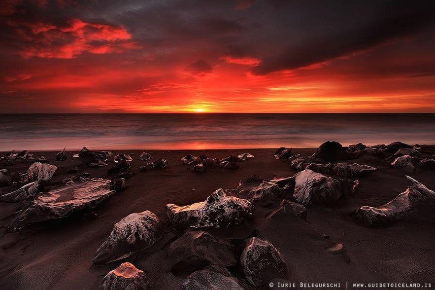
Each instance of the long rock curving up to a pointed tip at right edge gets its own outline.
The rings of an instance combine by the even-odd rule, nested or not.
[[[353,215],[365,225],[382,225],[414,214],[419,215],[419,208],[435,206],[435,192],[420,182],[406,176],[411,185],[389,203],[378,208],[363,206]]]

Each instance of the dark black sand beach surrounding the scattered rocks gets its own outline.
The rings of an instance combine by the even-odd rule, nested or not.
[[[109,146],[106,149],[110,149]],[[5,225],[11,220],[19,203],[0,203],[0,285],[2,289],[97,289],[103,277],[122,261],[133,263],[147,274],[151,289],[178,289],[188,274],[175,275],[167,262],[168,246],[177,238],[177,232],[167,225],[165,205],[189,205],[205,200],[216,189],[234,189],[243,178],[257,175],[261,179],[290,177],[296,174],[288,160],[276,160],[270,149],[231,150],[110,150],[114,155],[129,154],[136,173],[126,179],[126,187],[101,203],[93,212],[96,217],[65,218],[61,222],[29,225],[11,232]],[[310,155],[316,148],[296,148],[293,154]],[[165,158],[165,169],[140,171],[142,151],[151,154],[151,160]],[[248,161],[238,162],[238,170],[212,168],[205,173],[193,171],[180,158],[193,154],[208,154],[222,159],[228,155],[248,152],[254,155]],[[435,153],[435,146],[423,146],[423,157]],[[6,152],[1,152],[4,155]],[[108,165],[89,168],[81,158],[73,158],[78,151],[67,150],[66,161],[56,161],[58,151],[31,151],[33,157],[44,155],[57,170],[45,190],[62,185],[70,177],[69,170],[80,168],[80,175],[89,178],[111,179]],[[0,167],[11,173],[25,173],[35,160],[3,159]],[[339,199],[333,205],[315,205],[307,208],[306,220],[298,217],[266,217],[279,206],[279,201],[255,203],[254,218],[228,228],[202,228],[216,238],[240,240],[258,230],[282,254],[287,273],[282,281],[300,283],[340,283],[345,289],[349,283],[433,283],[435,267],[434,215],[421,213],[418,217],[400,220],[390,226],[368,227],[356,222],[351,213],[361,206],[380,206],[403,192],[409,181],[405,175],[435,188],[434,171],[406,173],[392,168],[385,158],[364,155],[352,162],[373,166],[378,171],[358,178],[355,195]],[[19,186],[1,187],[3,194]],[[143,211],[151,211],[165,222],[163,237],[152,247],[128,258],[103,266],[93,265],[93,258],[101,243],[108,237],[113,225],[121,218]],[[326,249],[342,243],[350,262],[327,253]],[[235,271],[235,270],[234,270]],[[237,271],[234,275],[239,275]],[[243,280],[243,277],[237,277]],[[281,280],[279,280],[281,281]],[[247,286],[246,286],[247,285]],[[255,289],[246,284],[247,289]],[[432,284],[434,285],[434,284]],[[276,286],[276,282],[275,282]],[[251,287],[251,288],[249,288]],[[263,286],[269,289],[268,285]]]

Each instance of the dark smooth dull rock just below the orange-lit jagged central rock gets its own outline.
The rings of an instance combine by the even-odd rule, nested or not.
[[[211,264],[232,267],[237,263],[230,243],[204,231],[185,232],[170,245],[167,256],[175,273],[191,273]]]

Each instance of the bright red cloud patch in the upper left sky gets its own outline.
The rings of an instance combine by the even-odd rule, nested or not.
[[[19,54],[24,58],[70,59],[84,52],[106,54],[140,48],[127,41],[132,36],[122,26],[90,23],[70,19],[64,26],[50,23],[13,23],[18,33],[28,41]]]

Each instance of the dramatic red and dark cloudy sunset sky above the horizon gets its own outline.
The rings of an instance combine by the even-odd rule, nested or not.
[[[435,112],[435,1],[2,0],[0,112]]]

